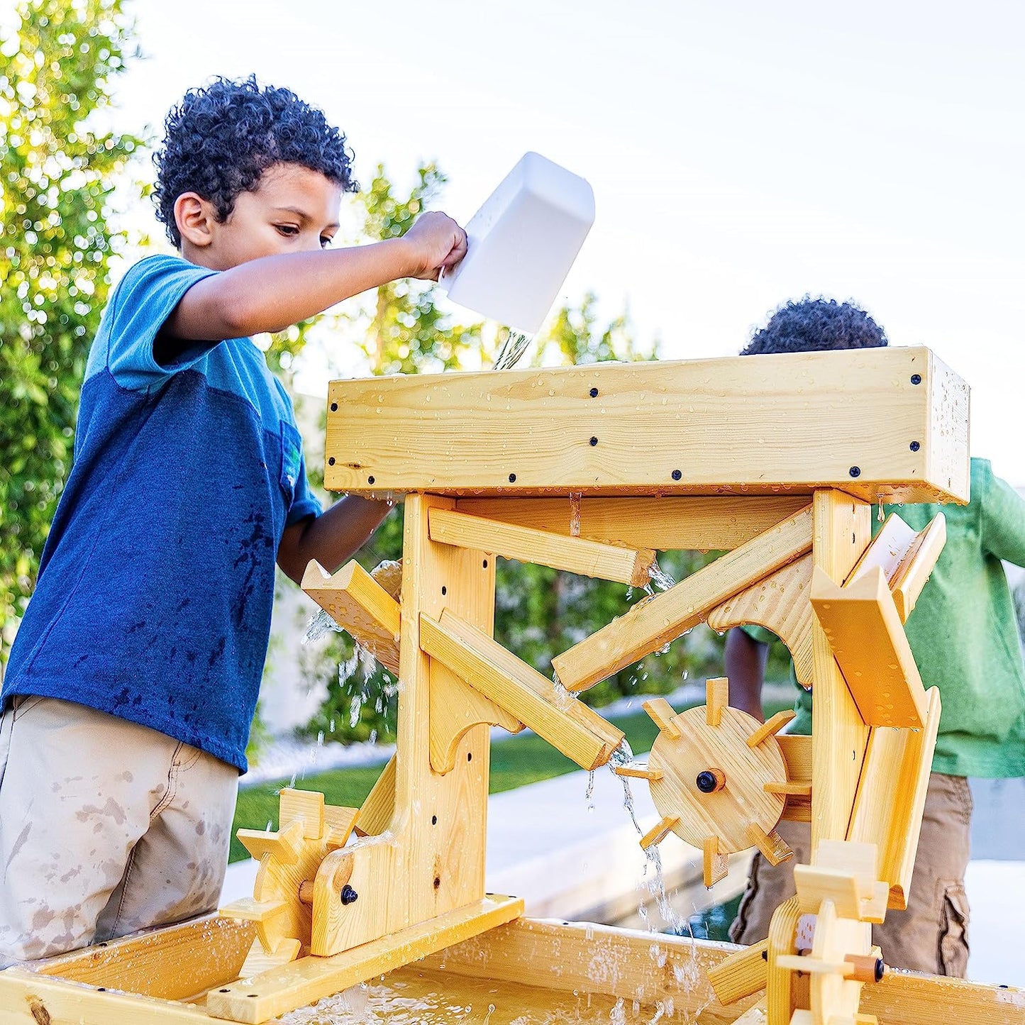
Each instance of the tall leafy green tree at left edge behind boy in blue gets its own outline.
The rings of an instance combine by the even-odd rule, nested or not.
[[[121,0],[28,0],[17,18],[0,43],[0,662],[70,469],[114,181],[139,144],[91,120],[125,67]]]

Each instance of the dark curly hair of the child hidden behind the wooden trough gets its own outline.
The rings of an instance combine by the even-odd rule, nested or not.
[[[887,344],[886,331],[864,310],[850,302],[806,295],[781,305],[769,323],[754,332],[740,355],[874,348]]]

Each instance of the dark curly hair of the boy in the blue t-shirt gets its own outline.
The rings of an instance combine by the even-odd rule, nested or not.
[[[299,164],[355,192],[353,153],[345,136],[294,92],[260,87],[256,78],[217,78],[190,89],[164,121],[164,145],[154,154],[157,219],[177,248],[174,202],[187,192],[209,200],[227,220],[240,193],[255,190],[274,164]]]

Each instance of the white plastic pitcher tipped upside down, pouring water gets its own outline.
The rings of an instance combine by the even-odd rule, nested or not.
[[[593,222],[590,186],[525,153],[470,217],[466,255],[439,284],[453,302],[534,334]]]

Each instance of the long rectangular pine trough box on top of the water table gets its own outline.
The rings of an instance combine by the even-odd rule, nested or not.
[[[920,347],[394,375],[329,400],[329,490],[968,500],[968,388]]]

